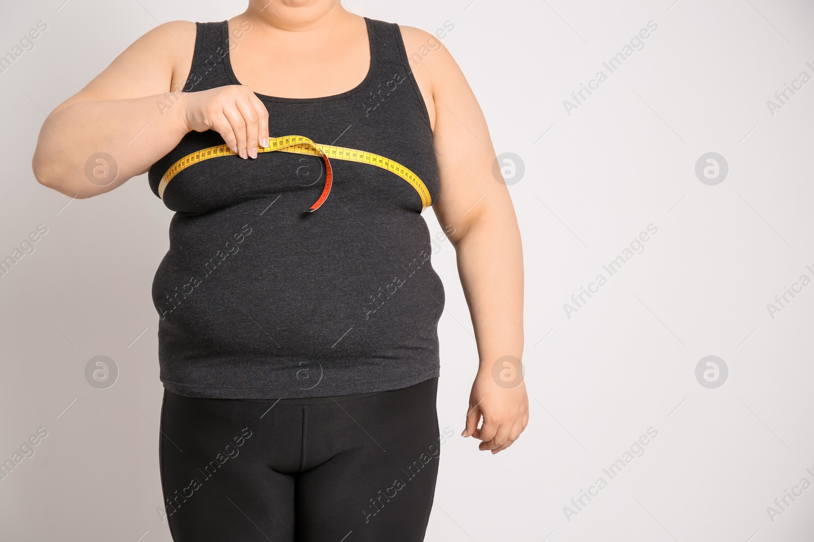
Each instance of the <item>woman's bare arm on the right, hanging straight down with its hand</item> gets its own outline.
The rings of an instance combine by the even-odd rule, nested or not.
[[[455,247],[478,346],[479,368],[462,435],[483,440],[479,449],[497,453],[528,423],[519,366],[523,249],[517,218],[509,190],[500,174],[493,173],[496,157],[486,119],[460,67],[431,34],[405,28],[403,35],[408,55],[428,40],[438,44],[426,56],[419,55],[413,68],[422,93],[431,93],[435,110],[431,119],[434,116],[441,184],[433,209]],[[478,428],[481,417],[484,423]]]

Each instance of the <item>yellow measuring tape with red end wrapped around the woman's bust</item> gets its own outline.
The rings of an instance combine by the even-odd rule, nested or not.
[[[337,147],[335,145],[322,145],[322,143],[314,143],[308,137],[304,136],[275,137],[269,140],[268,148],[257,147],[258,153],[273,153],[274,151],[295,154],[309,154],[311,156],[320,156],[323,160],[325,160],[325,188],[322,189],[322,194],[320,194],[317,201],[314,202],[314,204],[305,212],[310,213],[319,209],[330,193],[330,185],[333,184],[334,174],[330,167],[330,161],[328,159],[329,157],[337,158],[339,160],[347,160],[348,162],[367,163],[373,166],[381,167],[387,171],[392,171],[392,173],[395,173],[397,176],[400,176],[402,179],[406,180],[415,189],[415,191],[418,192],[418,196],[421,197],[421,210],[426,209],[432,204],[430,191],[427,190],[427,185],[424,184],[413,171],[410,171],[408,168],[402,166],[400,163],[397,163],[395,160],[380,156],[379,154],[368,153],[364,150],[348,149],[347,147]],[[197,150],[192,154],[187,154],[184,158],[181,158],[171,167],[169,167],[166,173],[164,173],[164,176],[161,177],[161,182],[158,185],[159,197],[162,200],[164,199],[164,190],[167,189],[167,184],[169,184],[169,181],[173,180],[173,177],[175,177],[179,171],[183,171],[187,167],[199,162],[203,162],[204,160],[208,160],[209,158],[232,156],[237,154],[238,153],[229,148],[229,145],[225,144],[208,147],[207,149]]]

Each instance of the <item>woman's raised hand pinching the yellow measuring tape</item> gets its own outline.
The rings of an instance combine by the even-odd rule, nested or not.
[[[181,103],[190,132],[218,132],[241,158],[257,158],[257,147],[269,146],[269,111],[247,86],[182,93]]]

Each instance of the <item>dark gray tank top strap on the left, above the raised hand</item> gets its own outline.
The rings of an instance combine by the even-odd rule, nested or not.
[[[195,52],[192,54],[190,75],[186,79],[183,92],[199,92],[231,85],[223,61],[228,51],[228,21],[196,22]]]

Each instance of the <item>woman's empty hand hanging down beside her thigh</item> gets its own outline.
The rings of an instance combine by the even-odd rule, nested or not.
[[[483,440],[478,448],[492,450],[492,454],[509,448],[528,424],[526,383],[504,388],[492,378],[492,371],[482,368],[472,384],[467,411],[462,436]],[[484,423],[478,428],[481,417]]]

